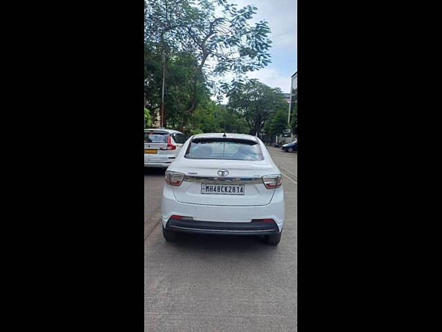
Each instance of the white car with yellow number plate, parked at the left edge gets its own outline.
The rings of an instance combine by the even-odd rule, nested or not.
[[[144,167],[169,167],[185,141],[180,131],[144,129]]]

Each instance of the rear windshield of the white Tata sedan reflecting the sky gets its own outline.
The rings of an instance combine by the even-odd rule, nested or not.
[[[258,142],[251,140],[196,140],[189,144],[185,158],[263,160]]]

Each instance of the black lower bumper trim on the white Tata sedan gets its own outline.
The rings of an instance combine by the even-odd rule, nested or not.
[[[218,221],[195,221],[169,219],[166,230],[184,233],[225,234],[225,235],[260,235],[278,234],[275,221],[253,221],[249,223],[226,223]]]

